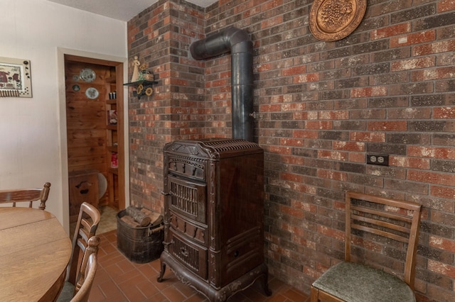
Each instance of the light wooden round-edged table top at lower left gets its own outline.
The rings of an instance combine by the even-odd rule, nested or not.
[[[0,207],[0,301],[53,301],[70,255],[70,237],[53,214]]]

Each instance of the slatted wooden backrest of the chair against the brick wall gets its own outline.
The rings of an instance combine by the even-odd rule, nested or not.
[[[351,261],[354,255],[353,242],[370,245],[370,250],[380,250],[383,254],[402,253],[406,256],[402,279],[414,289],[421,211],[422,206],[410,201],[346,192],[345,260]],[[387,240],[378,240],[378,236]],[[395,245],[390,240],[395,240]],[[387,249],[389,252],[385,252]],[[391,252],[393,249],[395,252]]]

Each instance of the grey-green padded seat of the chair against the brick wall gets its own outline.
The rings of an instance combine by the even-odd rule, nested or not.
[[[313,286],[348,302],[415,301],[414,291],[405,281],[353,262],[334,265]]]

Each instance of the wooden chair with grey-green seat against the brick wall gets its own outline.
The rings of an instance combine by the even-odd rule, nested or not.
[[[311,302],[415,301],[414,273],[421,210],[417,203],[346,192],[345,261],[329,268],[314,281]],[[360,264],[362,255],[370,259],[368,262],[378,259],[382,263],[375,264],[376,268],[371,263]],[[396,258],[402,259],[396,262]],[[382,264],[394,269],[404,266],[402,279],[392,275],[396,274],[393,269],[381,269]]]

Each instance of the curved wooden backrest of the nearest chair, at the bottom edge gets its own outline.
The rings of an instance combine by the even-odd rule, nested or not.
[[[82,257],[79,274],[77,274],[77,282],[74,288],[75,295],[71,299],[71,302],[88,301],[93,280],[95,279],[95,273],[97,272],[98,245],[100,245],[100,237],[90,237],[84,256]]]

